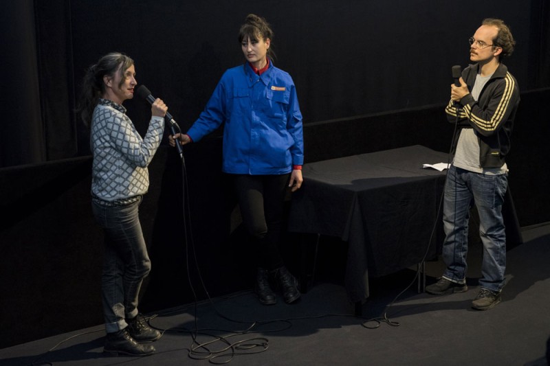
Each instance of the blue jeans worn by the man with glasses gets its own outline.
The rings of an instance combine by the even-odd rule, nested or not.
[[[443,261],[447,266],[444,278],[465,283],[468,220],[472,203],[475,203],[483,243],[479,285],[493,291],[502,290],[505,285],[506,236],[501,211],[507,181],[507,174],[480,174],[451,165],[443,202]]]

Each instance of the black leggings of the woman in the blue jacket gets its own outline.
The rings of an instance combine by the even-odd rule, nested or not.
[[[290,174],[234,174],[234,187],[244,225],[254,238],[257,266],[274,270],[283,266],[279,251],[285,194]]]

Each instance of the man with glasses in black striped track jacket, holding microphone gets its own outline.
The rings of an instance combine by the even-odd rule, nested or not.
[[[445,184],[443,203],[443,261],[439,281],[426,286],[432,295],[462,293],[466,286],[466,254],[470,208],[479,215],[483,243],[480,290],[472,308],[488,310],[500,302],[505,285],[506,238],[501,213],[507,190],[505,157],[520,101],[516,79],[501,62],[514,51],[515,41],[500,19],[485,19],[470,38],[470,60],[460,87],[451,85],[445,108],[456,123],[453,161]]]

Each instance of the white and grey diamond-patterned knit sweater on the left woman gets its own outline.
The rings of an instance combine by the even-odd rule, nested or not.
[[[163,132],[164,118],[153,116],[142,138],[126,116],[126,108],[100,99],[91,122],[92,196],[115,201],[145,194],[149,187],[147,166]]]

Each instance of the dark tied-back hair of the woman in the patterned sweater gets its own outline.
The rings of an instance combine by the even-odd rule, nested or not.
[[[86,126],[91,125],[91,115],[94,113],[94,108],[98,105],[99,98],[105,93],[103,77],[114,77],[115,72],[120,67],[121,80],[119,86],[121,86],[126,80],[124,71],[131,65],[133,65],[133,60],[129,56],[120,52],[111,52],[102,56],[96,65],[91,65],[87,69],[80,94],[80,104],[76,110]]]

